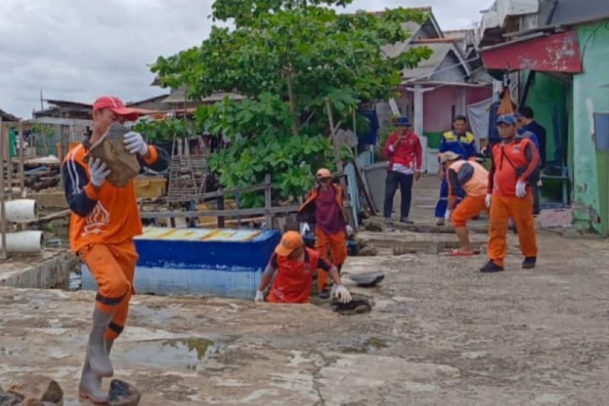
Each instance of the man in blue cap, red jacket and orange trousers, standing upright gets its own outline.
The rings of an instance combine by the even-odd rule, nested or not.
[[[539,153],[533,141],[516,136],[516,120],[511,114],[499,116],[497,128],[501,142],[491,152],[491,170],[485,198],[487,207],[490,207],[488,263],[480,271],[486,273],[504,269],[510,217],[518,229],[520,250],[525,257],[523,268],[534,268],[537,262],[530,181],[537,175]]]

